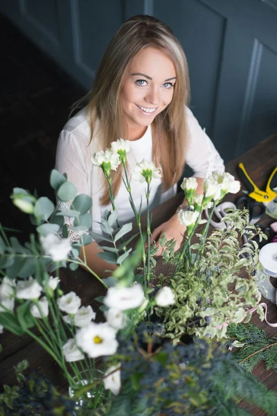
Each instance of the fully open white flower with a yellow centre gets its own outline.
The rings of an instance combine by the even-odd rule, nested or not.
[[[116,329],[110,327],[107,322],[91,322],[82,327],[76,333],[76,342],[91,358],[115,354],[118,347]]]

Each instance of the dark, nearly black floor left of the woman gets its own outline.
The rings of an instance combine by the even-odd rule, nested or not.
[[[0,222],[28,232],[26,215],[10,201],[12,188],[53,199],[49,175],[58,135],[85,91],[2,15],[0,32]]]

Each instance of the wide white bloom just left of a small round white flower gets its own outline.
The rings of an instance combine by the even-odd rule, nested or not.
[[[145,295],[143,288],[141,284],[138,283],[130,288],[120,288],[116,286],[109,288],[103,302],[108,308],[127,311],[127,309],[134,309],[141,306],[144,299]]]

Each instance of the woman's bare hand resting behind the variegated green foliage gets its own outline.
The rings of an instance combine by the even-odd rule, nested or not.
[[[167,240],[175,239],[175,251],[179,250],[181,246],[181,242],[183,241],[184,233],[186,232],[186,225],[181,225],[179,223],[178,215],[175,214],[172,216],[166,223],[159,225],[159,227],[155,228],[150,236],[150,244],[153,241],[156,241],[156,247],[159,245],[159,239],[166,234]],[[159,247],[159,250],[156,256],[161,256],[163,252],[163,248]]]

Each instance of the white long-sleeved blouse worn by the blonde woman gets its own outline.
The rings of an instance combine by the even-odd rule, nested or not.
[[[193,169],[195,177],[206,177],[212,171],[224,171],[224,162],[215,150],[211,139],[200,127],[193,113],[186,107],[188,123],[188,150],[186,164]],[[106,209],[111,210],[111,205],[101,206],[99,203],[102,195],[102,184],[105,178],[98,166],[93,166],[91,156],[98,150],[97,137],[93,138],[91,144],[90,128],[86,117],[85,108],[73,116],[64,126],[57,142],[57,153],[55,168],[61,173],[67,174],[67,179],[78,189],[79,193],[86,193],[92,198],[92,229],[102,234],[98,224]],[[152,161],[152,133],[151,125],[148,126],[141,139],[130,141],[130,152],[127,153],[127,162],[130,171],[136,166],[136,162],[142,159]],[[132,196],[137,209],[143,201],[142,213],[146,209],[145,190],[147,185],[134,182],[130,178]],[[150,209],[157,207],[162,202],[172,198],[177,192],[177,184],[168,191],[161,193],[161,180],[154,179],[151,182]],[[115,205],[118,211],[118,220],[121,225],[134,219],[134,213],[129,205],[129,194],[122,183],[115,198]],[[69,209],[69,205],[58,203],[59,209]],[[66,218],[66,223],[73,225],[72,218]],[[79,234],[71,232],[72,241],[78,241]]]

